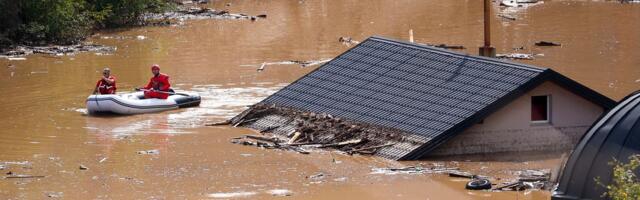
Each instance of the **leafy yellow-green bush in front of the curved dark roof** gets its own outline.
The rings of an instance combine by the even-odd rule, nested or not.
[[[639,200],[640,179],[636,174],[640,167],[640,155],[629,157],[629,163],[614,161],[613,177],[606,186],[605,195],[612,200]],[[600,183],[599,180],[597,180]]]

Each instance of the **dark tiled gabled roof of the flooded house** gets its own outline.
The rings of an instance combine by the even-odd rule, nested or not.
[[[551,69],[381,37],[363,41],[263,103],[406,131],[424,144],[390,157],[417,159],[546,80],[602,107],[614,105]]]

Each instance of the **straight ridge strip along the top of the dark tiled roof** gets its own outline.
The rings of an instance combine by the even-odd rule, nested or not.
[[[417,49],[420,49],[420,50],[427,49],[427,50],[430,50],[431,52],[440,53],[440,54],[448,54],[450,56],[471,57],[474,60],[477,60],[477,61],[480,61],[480,62],[498,64],[498,65],[501,65],[501,66],[524,69],[524,70],[529,70],[529,71],[533,71],[533,72],[543,72],[543,71],[546,71],[546,70],[551,70],[550,68],[542,68],[542,67],[536,67],[536,66],[522,64],[522,63],[509,62],[509,61],[505,61],[505,60],[498,60],[498,59],[495,59],[495,58],[489,58],[489,57],[483,57],[483,56],[476,56],[476,55],[472,55],[472,54],[460,53],[460,52],[455,52],[455,51],[451,51],[451,50],[431,47],[431,46],[427,46],[427,45],[420,44],[420,43],[411,43],[411,42],[407,42],[407,41],[401,41],[401,40],[386,38],[386,37],[382,37],[382,36],[371,36],[371,37],[367,38],[365,41],[367,41],[367,40],[376,40],[376,41],[380,41],[380,42],[400,44],[400,45],[403,45],[405,47],[417,48]]]

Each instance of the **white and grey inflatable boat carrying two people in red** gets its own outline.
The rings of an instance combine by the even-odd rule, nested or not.
[[[167,99],[145,99],[143,92],[96,94],[87,97],[89,113],[142,114],[200,105],[200,95],[175,93]]]

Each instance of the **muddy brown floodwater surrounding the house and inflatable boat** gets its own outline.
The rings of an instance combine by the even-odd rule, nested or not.
[[[230,6],[226,6],[230,3]],[[207,6],[266,19],[195,20],[182,26],[101,32],[89,40],[112,55],[30,55],[0,60],[0,199],[548,199],[547,191],[476,192],[464,179],[435,174],[372,174],[372,168],[443,163],[480,174],[551,168],[559,155],[529,161],[396,162],[332,152],[301,155],[234,145],[247,129],[204,127],[227,119],[317,66],[268,65],[333,58],[342,36],[482,44],[482,1],[215,1]],[[611,98],[640,88],[640,4],[550,0],[494,12],[499,53],[553,68]],[[536,47],[537,41],[562,43]],[[524,47],[524,50],[513,48]],[[143,85],[158,63],[174,87],[199,92],[200,107],[117,117],[84,114],[84,100],[104,66],[119,91]],[[137,153],[144,151],[143,154]],[[87,167],[80,170],[79,166]],[[307,178],[323,173],[323,177]]]

